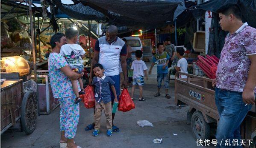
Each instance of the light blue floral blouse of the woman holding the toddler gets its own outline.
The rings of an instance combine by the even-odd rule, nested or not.
[[[70,97],[71,95],[74,95],[70,79],[60,70],[60,68],[64,66],[68,66],[65,57],[54,52],[50,53],[48,68],[53,97],[55,98]],[[81,90],[79,83],[78,89],[79,91]]]

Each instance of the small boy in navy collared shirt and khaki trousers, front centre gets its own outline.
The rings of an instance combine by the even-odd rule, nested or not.
[[[107,136],[112,136],[112,107],[110,88],[115,96],[115,102],[118,102],[118,97],[115,91],[115,82],[103,72],[101,64],[93,66],[93,72],[96,77],[93,78],[91,85],[94,86],[95,91],[95,108],[94,108],[94,131],[92,136],[98,136],[100,133],[100,117],[101,111],[104,110],[106,116]]]

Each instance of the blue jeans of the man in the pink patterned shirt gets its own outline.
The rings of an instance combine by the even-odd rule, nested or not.
[[[240,125],[252,105],[246,105],[242,99],[242,92],[228,91],[215,88],[215,104],[218,108],[220,120],[218,122],[216,139],[219,148],[242,148],[233,146],[233,139],[240,145]],[[230,139],[231,146],[225,146],[225,140]],[[220,146],[221,144],[221,146]]]

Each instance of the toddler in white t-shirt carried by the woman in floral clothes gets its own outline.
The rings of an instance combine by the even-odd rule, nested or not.
[[[78,31],[74,28],[68,28],[65,31],[65,35],[68,41],[67,44],[61,47],[59,54],[66,58],[68,65],[73,71],[82,74],[84,68],[82,58],[85,57],[85,51],[80,45],[76,44]],[[77,104],[82,101],[79,94],[85,94],[82,79],[78,79],[81,91],[78,90],[77,80],[70,79],[70,81],[72,83],[74,94],[76,95],[75,103]]]

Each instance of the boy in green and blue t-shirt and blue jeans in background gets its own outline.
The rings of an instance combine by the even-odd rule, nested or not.
[[[154,55],[153,62],[151,64],[149,74],[151,74],[151,70],[157,62],[157,93],[154,95],[155,97],[160,96],[160,88],[162,84],[162,80],[164,80],[165,85],[165,97],[170,99],[171,96],[168,94],[169,88],[169,80],[168,80],[168,63],[169,63],[169,55],[164,51],[164,44],[157,43],[156,45],[158,53]]]

